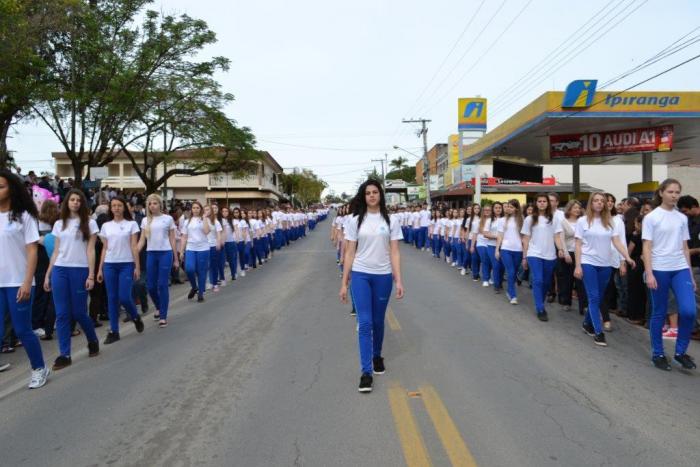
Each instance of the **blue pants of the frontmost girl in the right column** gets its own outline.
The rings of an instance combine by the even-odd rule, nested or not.
[[[693,281],[690,269],[679,271],[654,271],[656,290],[651,291],[651,319],[649,320],[649,335],[653,356],[664,354],[661,337],[662,328],[668,311],[668,291],[673,290],[678,305],[678,338],[676,339],[676,355],[682,355],[688,350],[690,335],[695,322],[696,304],[693,291]]]

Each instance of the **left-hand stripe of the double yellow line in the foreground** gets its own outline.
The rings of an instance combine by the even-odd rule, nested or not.
[[[425,448],[423,437],[418,431],[416,419],[413,417],[411,407],[408,405],[406,390],[399,384],[389,386],[389,404],[394,415],[396,432],[403,449],[403,457],[408,467],[431,466],[428,450]]]

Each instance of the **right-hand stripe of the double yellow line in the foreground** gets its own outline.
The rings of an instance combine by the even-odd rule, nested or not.
[[[421,398],[425,404],[425,408],[433,421],[435,430],[437,431],[442,446],[450,458],[453,466],[460,467],[476,467],[474,457],[472,457],[469,448],[464,444],[462,435],[460,435],[457,426],[452,421],[445,404],[442,403],[440,396],[435,388],[431,385],[421,386]]]

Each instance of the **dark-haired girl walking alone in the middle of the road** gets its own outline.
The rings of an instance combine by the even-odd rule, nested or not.
[[[401,279],[398,222],[391,222],[386,209],[384,190],[379,182],[367,180],[355,196],[355,215],[346,223],[347,247],[340,299],[348,301],[351,280],[352,298],[357,309],[360,347],[360,392],[372,391],[372,372],[385,372],[382,358],[384,316],[392,289],[396,298],[404,295]]]

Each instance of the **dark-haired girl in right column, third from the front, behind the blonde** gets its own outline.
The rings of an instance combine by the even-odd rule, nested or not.
[[[561,227],[554,221],[549,197],[545,193],[539,193],[532,215],[523,222],[520,234],[523,236],[522,264],[523,268],[529,269],[532,275],[532,295],[537,318],[540,321],[549,321],[544,300],[552,284],[557,249],[560,255],[564,254],[561,238],[555,235],[561,232],[560,229]]]

